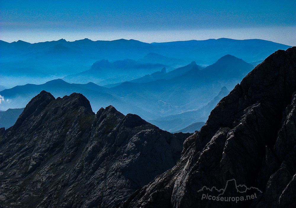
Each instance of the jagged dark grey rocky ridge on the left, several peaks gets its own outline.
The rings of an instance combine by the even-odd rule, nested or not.
[[[173,167],[190,135],[41,91],[0,128],[0,207],[114,207]]]

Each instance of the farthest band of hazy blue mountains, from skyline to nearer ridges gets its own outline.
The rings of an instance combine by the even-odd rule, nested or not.
[[[41,84],[89,70],[93,63],[102,59],[110,62],[133,59],[142,63],[179,67],[192,61],[196,61],[198,65],[210,65],[223,55],[231,54],[252,63],[265,59],[278,49],[288,47],[259,39],[225,38],[151,44],[132,39],[83,39],[74,42],[60,39],[34,44],[0,41],[0,85],[9,88],[26,83]],[[132,79],[135,78],[139,77]],[[82,81],[87,83],[87,80]]]

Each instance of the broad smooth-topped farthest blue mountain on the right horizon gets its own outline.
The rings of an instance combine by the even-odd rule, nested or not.
[[[235,40],[229,38],[163,42],[152,43],[152,45],[158,49],[159,54],[178,57],[185,61],[195,60],[200,65],[212,64],[227,54],[240,57],[251,63],[264,60],[271,51],[290,47],[261,39]]]

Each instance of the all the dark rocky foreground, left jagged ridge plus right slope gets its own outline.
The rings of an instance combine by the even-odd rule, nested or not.
[[[0,128],[1,206],[295,207],[295,77],[296,47],[276,51],[193,134],[41,91]]]

